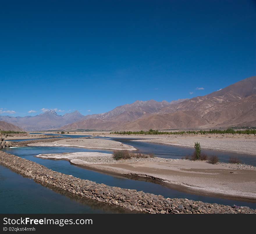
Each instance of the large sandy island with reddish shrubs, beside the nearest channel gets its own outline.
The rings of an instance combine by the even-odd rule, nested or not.
[[[113,159],[111,154],[77,152],[41,154],[44,159],[62,159],[104,173],[131,175],[175,185],[181,191],[256,201],[256,167],[243,164],[165,158]]]

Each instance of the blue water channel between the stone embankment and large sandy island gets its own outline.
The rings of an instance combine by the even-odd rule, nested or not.
[[[93,170],[88,170],[78,166],[71,165],[68,161],[63,160],[50,160],[50,159],[40,159],[34,157],[38,154],[47,154],[47,153],[64,153],[64,152],[102,152],[102,153],[111,153],[108,150],[92,150],[92,149],[83,149],[75,147],[18,147],[18,148],[5,148],[3,149],[6,153],[11,153],[19,157],[29,159],[31,161],[37,162],[41,165],[46,166],[52,170],[65,173],[68,175],[73,175],[82,179],[89,179],[97,183],[103,183],[110,186],[118,186],[121,188],[130,188],[136,189],[138,191],[144,191],[146,193],[161,194],[164,197],[171,198],[187,198],[193,200],[200,200],[203,202],[209,203],[219,203],[226,205],[238,205],[238,206],[250,206],[251,208],[256,208],[256,203],[252,202],[241,202],[230,199],[221,199],[216,197],[207,197],[201,195],[194,195],[189,193],[184,193],[166,187],[161,183],[147,182],[141,179],[129,179],[122,176],[113,176],[106,173],[100,173]]]

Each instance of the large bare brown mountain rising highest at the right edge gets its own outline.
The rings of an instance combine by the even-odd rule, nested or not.
[[[255,123],[256,77],[250,77],[209,95],[163,108],[155,115],[130,122],[123,128],[209,128],[256,126]]]

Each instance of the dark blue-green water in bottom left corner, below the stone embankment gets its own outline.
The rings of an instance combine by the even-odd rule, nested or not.
[[[56,192],[0,164],[0,213],[124,213],[91,199]]]

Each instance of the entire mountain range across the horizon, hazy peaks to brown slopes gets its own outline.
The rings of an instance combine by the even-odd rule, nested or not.
[[[0,116],[0,121],[27,131],[256,126],[256,76],[192,99],[179,99],[171,102],[135,101],[132,104],[118,106],[106,113],[86,116],[78,111],[61,116],[54,110],[49,110],[36,116]]]

